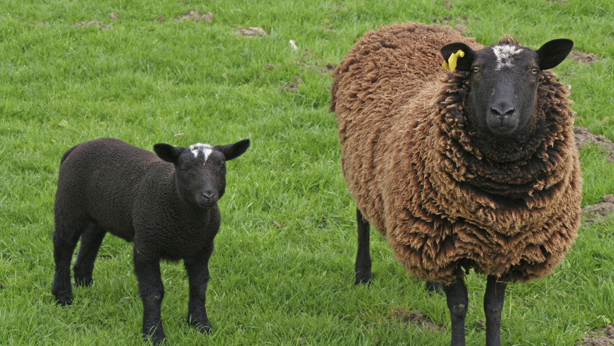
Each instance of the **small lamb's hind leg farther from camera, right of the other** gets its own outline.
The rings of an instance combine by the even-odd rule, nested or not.
[[[96,255],[98,255],[98,250],[103,243],[105,234],[106,231],[102,227],[90,224],[81,235],[79,253],[77,253],[77,259],[72,266],[76,286],[91,285],[91,272],[94,270]]]

